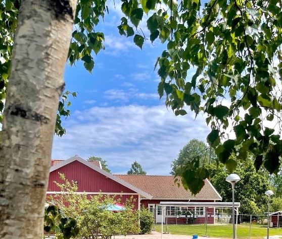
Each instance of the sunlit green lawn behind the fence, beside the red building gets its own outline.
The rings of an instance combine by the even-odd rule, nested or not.
[[[163,226],[164,232],[166,232],[166,225]],[[161,225],[156,225],[156,231],[161,232]],[[267,227],[262,225],[251,226],[252,239],[261,239],[266,237]],[[210,237],[232,238],[232,224],[215,224],[215,225],[167,225],[167,232],[171,234],[180,235],[208,235]],[[237,238],[247,239],[249,238],[250,224],[238,224]],[[281,235],[282,228],[269,228],[269,235]]]

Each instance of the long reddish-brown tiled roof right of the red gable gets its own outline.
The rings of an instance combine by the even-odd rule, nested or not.
[[[196,194],[196,196],[192,196],[192,193],[189,190],[185,190],[181,183],[180,187],[174,184],[174,176],[134,174],[115,174],[114,176],[152,195],[153,199],[221,200],[220,195],[216,192],[208,180],[205,180],[205,186],[200,193]]]

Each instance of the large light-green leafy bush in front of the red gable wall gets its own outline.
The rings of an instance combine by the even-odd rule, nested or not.
[[[133,197],[123,203],[121,211],[109,210],[110,205],[120,203],[120,196],[102,193],[87,198],[86,194],[77,194],[77,184],[69,182],[60,173],[63,184],[56,183],[63,194],[54,195],[58,207],[66,216],[75,218],[79,227],[79,236],[84,238],[109,238],[113,234],[126,235],[140,232],[139,212],[134,210]]]

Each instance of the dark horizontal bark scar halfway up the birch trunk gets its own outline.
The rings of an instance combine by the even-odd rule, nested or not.
[[[11,115],[20,116],[27,120],[37,121],[42,124],[48,124],[49,118],[41,115],[31,109],[24,109],[21,105],[10,105],[8,111]]]

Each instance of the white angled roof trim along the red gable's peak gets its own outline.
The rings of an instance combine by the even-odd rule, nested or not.
[[[91,168],[91,169],[93,169],[93,170],[95,170],[95,171],[97,171],[97,172],[100,172],[101,174],[105,175],[106,177],[111,178],[111,180],[113,180],[113,181],[115,181],[115,182],[117,182],[117,183],[123,185],[123,186],[126,187],[126,188],[131,189],[132,191],[134,191],[134,192],[136,192],[136,193],[142,195],[143,197],[145,197],[145,198],[147,198],[147,199],[152,199],[152,198],[153,198],[152,195],[150,195],[150,194],[148,194],[148,193],[145,193],[145,192],[143,192],[142,190],[140,190],[140,189],[138,189],[138,188],[132,186],[131,184],[128,184],[128,183],[124,182],[124,181],[121,180],[120,178],[114,176],[113,174],[111,174],[111,173],[109,173],[109,172],[106,172],[106,171],[103,170],[102,168],[97,167],[97,166],[93,165],[92,163],[89,163],[87,160],[84,160],[83,158],[81,158],[81,157],[79,157],[79,156],[77,156],[77,155],[75,155],[75,156],[73,156],[73,157],[71,157],[71,158],[69,158],[69,159],[67,159],[67,160],[65,160],[65,161],[63,161],[63,162],[61,162],[61,163],[58,163],[58,164],[52,166],[52,167],[50,168],[49,172],[53,172],[53,171],[55,171],[55,170],[57,170],[57,169],[59,169],[59,168],[65,166],[65,165],[67,165],[67,164],[69,164],[69,163],[71,163],[71,162],[74,162],[74,161],[78,161],[78,162],[80,162],[80,163],[83,163],[84,165],[88,166],[89,168]]]

